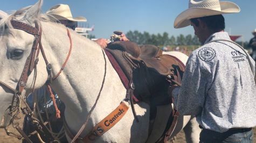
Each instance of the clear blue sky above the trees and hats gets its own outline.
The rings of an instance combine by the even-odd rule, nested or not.
[[[248,41],[256,28],[256,1],[230,1],[237,3],[241,12],[224,15],[225,31],[243,35],[244,41]],[[36,2],[36,0],[3,1],[0,10],[17,10]],[[116,30],[124,33],[129,30],[138,30],[147,31],[150,34],[168,32],[169,35],[174,36],[193,35],[191,26],[180,29],[173,27],[176,16],[188,8],[188,2],[188,0],[45,0],[43,12],[59,3],[68,4],[73,17],[84,16],[87,18],[87,25],[95,24],[95,30],[91,33],[96,38],[109,38]]]

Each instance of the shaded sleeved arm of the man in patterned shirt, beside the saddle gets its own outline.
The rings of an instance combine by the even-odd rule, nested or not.
[[[188,60],[181,88],[172,91],[175,108],[181,115],[198,115],[203,108],[206,94],[206,79],[197,63]]]

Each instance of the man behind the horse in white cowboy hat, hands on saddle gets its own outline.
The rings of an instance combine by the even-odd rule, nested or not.
[[[75,17],[73,18],[70,6],[67,4],[58,4],[47,10],[47,15],[50,16],[50,19],[56,22],[60,22],[61,24],[64,24],[66,27],[71,28],[72,30],[75,30],[75,28],[78,26],[78,22],[86,22],[87,19],[85,17]],[[122,33],[120,40],[122,41],[128,41],[126,36]],[[106,48],[108,44],[107,39],[97,39],[94,40],[97,44],[101,46],[101,48]]]

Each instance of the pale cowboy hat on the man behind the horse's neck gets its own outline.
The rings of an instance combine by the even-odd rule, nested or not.
[[[58,4],[53,6],[51,9],[46,11],[47,15],[50,15],[58,20],[71,20],[75,22],[86,22],[85,17],[74,17],[72,16],[70,6],[67,4]]]

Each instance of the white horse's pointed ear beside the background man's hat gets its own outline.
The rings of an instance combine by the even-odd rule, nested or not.
[[[43,5],[43,0],[39,0],[36,4],[25,8],[27,10],[24,13],[23,19],[27,20],[27,21],[29,21],[31,23],[34,22],[35,19],[39,19],[40,18],[40,14],[41,14],[41,6],[42,5]]]

